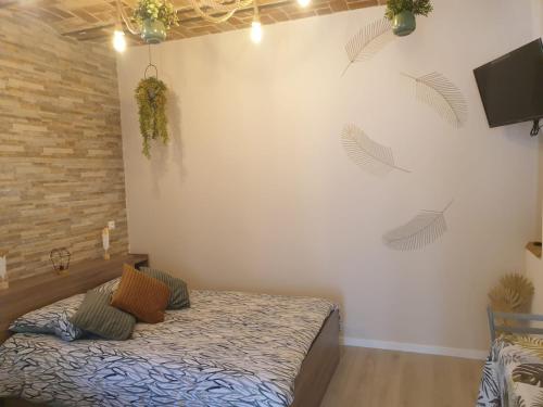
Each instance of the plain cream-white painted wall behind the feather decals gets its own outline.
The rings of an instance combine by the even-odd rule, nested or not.
[[[472,69],[535,38],[530,1],[435,0],[430,18],[344,77],[344,44],[371,8],[153,51],[172,90],[172,143],[140,154],[134,88],[147,48],[118,60],[132,252],[192,288],[324,295],[353,343],[484,349],[487,292],[534,239],[530,124],[489,129]],[[438,71],[469,103],[456,130],[400,72]],[[375,177],[340,143],[354,123],[412,174]],[[381,236],[450,200],[449,232],[394,252]]]

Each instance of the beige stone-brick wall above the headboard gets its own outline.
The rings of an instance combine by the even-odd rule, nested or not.
[[[59,36],[39,20],[0,11],[0,252],[18,279],[51,269],[49,253],[127,251],[114,53]]]

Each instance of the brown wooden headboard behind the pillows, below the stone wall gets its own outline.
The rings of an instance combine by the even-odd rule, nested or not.
[[[147,254],[119,255],[75,263],[67,276],[51,271],[11,282],[8,290],[0,290],[0,343],[10,336],[10,323],[22,315],[119,277],[124,264],[141,267],[148,263]]]

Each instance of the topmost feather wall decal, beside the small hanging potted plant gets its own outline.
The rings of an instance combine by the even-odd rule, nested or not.
[[[394,39],[392,22],[388,18],[376,20],[363,27],[345,46],[349,65],[343,74],[355,62],[367,61]]]

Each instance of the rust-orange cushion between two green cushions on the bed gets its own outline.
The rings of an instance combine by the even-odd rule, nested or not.
[[[123,277],[111,305],[134,315],[148,323],[164,321],[171,295],[169,288],[163,282],[124,265]]]

